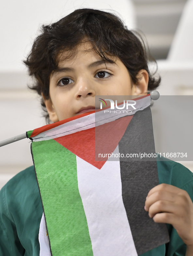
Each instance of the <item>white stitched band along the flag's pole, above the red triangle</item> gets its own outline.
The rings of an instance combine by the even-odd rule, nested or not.
[[[113,113],[114,110],[112,110],[111,113],[109,111],[109,113],[104,114],[103,110],[101,110],[99,112],[95,112],[87,116],[83,116],[78,119],[69,121],[68,123],[64,123],[50,130],[41,132],[40,134],[32,137],[33,141],[36,142],[36,141],[55,139],[64,135],[72,134],[82,130],[87,130],[93,127],[97,127],[99,125],[103,125],[105,123],[115,121],[118,118],[121,118],[123,116],[133,115],[138,110],[143,110],[144,108],[147,108],[148,106],[150,106],[151,97],[147,96],[139,100],[136,99],[136,102],[137,104],[135,105],[135,107],[137,109],[135,110],[131,106],[128,106],[128,109],[126,109],[126,107],[125,109],[122,109],[121,113]],[[123,104],[120,105],[119,107],[121,106],[123,106]],[[126,112],[127,110],[131,110],[132,112],[127,113]]]

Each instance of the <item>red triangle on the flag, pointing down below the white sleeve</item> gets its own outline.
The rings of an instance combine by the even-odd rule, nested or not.
[[[108,154],[111,154],[119,144],[132,117],[121,117],[96,128],[79,131],[54,140],[89,164],[101,169],[108,160]],[[105,154],[105,157],[101,158],[99,154],[103,154],[103,156]]]

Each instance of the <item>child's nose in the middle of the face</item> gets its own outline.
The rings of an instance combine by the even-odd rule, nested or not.
[[[88,95],[90,96],[96,95],[94,85],[86,79],[77,81],[75,88],[76,88],[75,98],[80,98],[81,96],[85,98]]]

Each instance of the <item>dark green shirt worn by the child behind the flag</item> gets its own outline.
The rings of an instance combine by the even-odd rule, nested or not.
[[[193,200],[193,173],[190,170],[173,161],[158,161],[157,167],[160,183],[186,190]],[[38,235],[42,213],[36,175],[31,166],[13,177],[0,191],[0,255],[40,255]],[[169,244],[154,248],[143,256],[185,255],[186,245],[171,225],[168,229]]]

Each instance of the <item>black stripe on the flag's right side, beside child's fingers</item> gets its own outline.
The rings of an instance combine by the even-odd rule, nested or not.
[[[134,115],[119,143],[119,152],[124,155],[155,153],[150,107]],[[120,159],[120,167],[123,203],[137,254],[140,255],[169,242],[166,224],[155,223],[144,210],[149,190],[159,184],[157,163],[153,159],[134,161],[127,158],[124,161]]]

